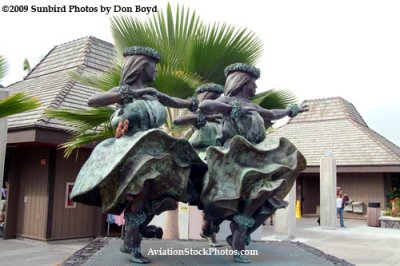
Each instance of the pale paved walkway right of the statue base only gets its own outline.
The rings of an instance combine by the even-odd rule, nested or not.
[[[316,218],[297,221],[294,241],[303,242],[355,265],[400,265],[400,230],[370,227],[366,221],[345,220],[345,228],[322,229]],[[275,239],[265,226],[263,240]]]

